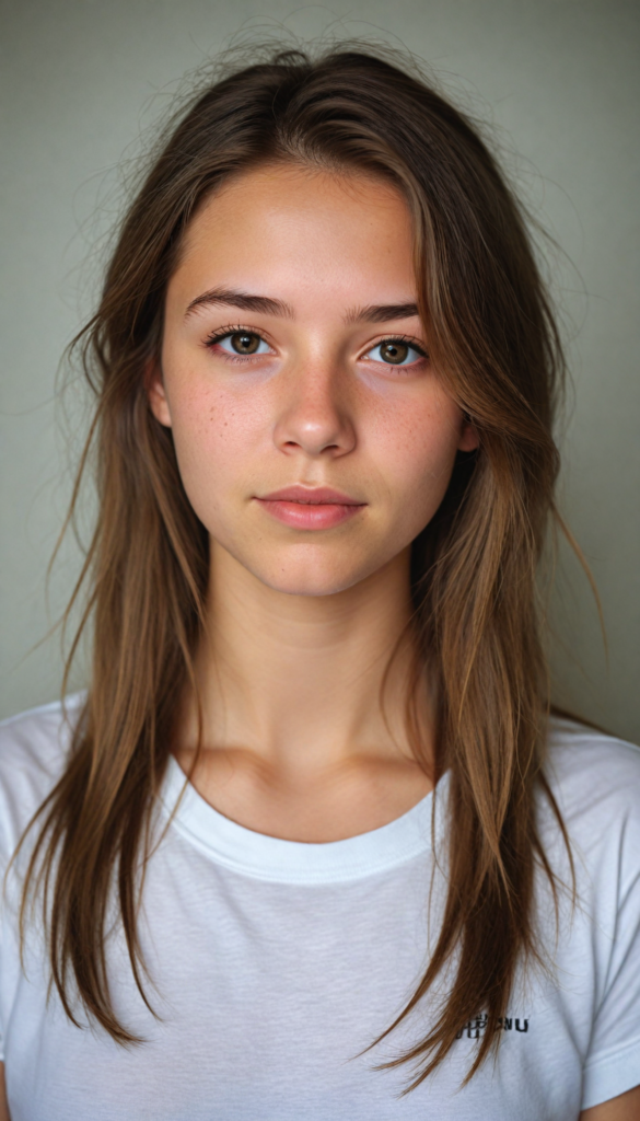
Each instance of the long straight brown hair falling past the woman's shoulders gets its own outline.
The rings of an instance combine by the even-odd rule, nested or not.
[[[194,212],[226,176],[278,160],[365,170],[404,192],[429,352],[480,436],[412,547],[416,683],[427,667],[436,770],[451,775],[448,895],[428,970],[396,1023],[456,962],[435,1026],[395,1060],[417,1060],[414,1088],[483,1011],[473,1074],[497,1045],[518,963],[538,954],[535,868],[553,874],[535,822],[537,790],[551,798],[536,568],[554,512],[564,363],[520,206],[494,158],[461,112],[383,52],[272,53],[210,83],[173,122],[124,217],[99,311],[78,336],[96,396],[87,448],[100,509],[78,585],[90,587],[80,631],[93,624],[91,682],[66,769],[37,815],[22,930],[27,892],[44,878],[67,1015],[77,1022],[80,997],[115,1040],[136,1041],[109,995],[106,908],[115,892],[146,999],[141,870],[176,707],[195,687],[208,571],[207,535],[171,434],[149,409],[145,371],[158,359],[165,289]],[[409,722],[412,701],[415,691]]]

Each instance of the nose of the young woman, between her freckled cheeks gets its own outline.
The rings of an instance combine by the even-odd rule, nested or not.
[[[353,402],[347,374],[338,365],[307,362],[290,370],[281,386],[273,441],[285,453],[338,458],[355,447]]]

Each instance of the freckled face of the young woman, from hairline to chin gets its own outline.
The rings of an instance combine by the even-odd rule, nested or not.
[[[149,399],[214,560],[289,594],[406,554],[475,446],[429,362],[407,206],[364,176],[262,167],[201,209]]]

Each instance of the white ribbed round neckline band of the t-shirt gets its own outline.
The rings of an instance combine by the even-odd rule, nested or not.
[[[448,776],[437,785],[436,809],[444,800]],[[279,883],[342,883],[391,871],[428,852],[434,798],[430,791],[388,825],[343,841],[305,843],[267,836],[239,825],[214,809],[186,780],[171,756],[161,794],[171,826],[191,844],[222,867],[258,880]],[[177,808],[176,808],[177,806]]]

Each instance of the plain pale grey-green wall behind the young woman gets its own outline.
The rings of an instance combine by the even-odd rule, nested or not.
[[[13,0],[1,4],[2,715],[56,696],[45,572],[69,488],[63,348],[91,311],[121,176],[187,71],[238,33],[408,45],[488,119],[566,251],[551,261],[574,373],[560,502],[602,595],[563,558],[557,693],[640,740],[639,43],[623,0]],[[514,154],[519,155],[516,156]],[[67,400],[77,444],[80,389]],[[77,552],[63,552],[55,615]],[[81,678],[80,678],[81,679]],[[78,683],[80,683],[78,679]]]

